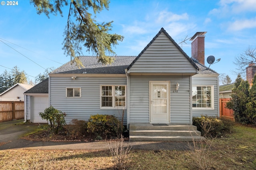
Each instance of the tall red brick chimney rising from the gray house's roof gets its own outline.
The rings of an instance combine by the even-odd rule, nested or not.
[[[204,37],[207,32],[196,32],[191,37],[191,57],[204,65]]]

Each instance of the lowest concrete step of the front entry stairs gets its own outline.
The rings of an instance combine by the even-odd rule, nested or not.
[[[130,141],[200,141],[200,136],[130,136]]]

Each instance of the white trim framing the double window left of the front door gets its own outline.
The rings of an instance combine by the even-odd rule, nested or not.
[[[105,107],[102,106],[102,86],[112,86],[112,107]],[[113,92],[113,89],[115,89],[115,86],[125,86],[125,106],[115,106],[115,91]],[[127,89],[126,85],[100,85],[100,109],[126,109],[127,104]]]

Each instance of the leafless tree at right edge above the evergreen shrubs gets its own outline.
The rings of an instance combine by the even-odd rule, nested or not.
[[[246,76],[246,67],[250,63],[256,63],[256,47],[249,46],[244,53],[240,56],[235,57],[234,64],[237,65],[236,74],[241,74],[242,77]]]

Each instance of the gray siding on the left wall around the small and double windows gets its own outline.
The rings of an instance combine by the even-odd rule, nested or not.
[[[100,85],[126,85],[126,77],[51,77],[50,105],[65,112],[66,123],[72,119],[88,120],[90,115],[109,114],[121,120],[122,109],[100,109]],[[66,98],[66,88],[81,88],[81,98]],[[127,95],[126,95],[127,96]],[[126,109],[124,116],[126,124]]]

